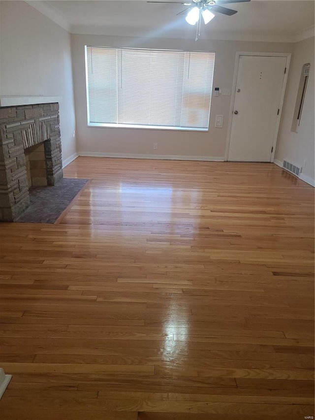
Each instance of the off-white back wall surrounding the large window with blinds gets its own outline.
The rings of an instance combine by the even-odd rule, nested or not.
[[[84,46],[140,47],[215,51],[214,87],[231,89],[237,51],[291,52],[293,44],[275,42],[207,41],[163,38],[131,38],[104,35],[71,35],[79,154],[197,156],[224,160],[231,97],[213,97],[209,132],[87,126]],[[223,128],[215,128],[216,114],[223,114]],[[153,143],[158,143],[158,150]]]

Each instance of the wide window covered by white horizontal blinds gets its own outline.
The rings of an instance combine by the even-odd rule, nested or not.
[[[86,46],[89,126],[207,131],[215,53]]]

